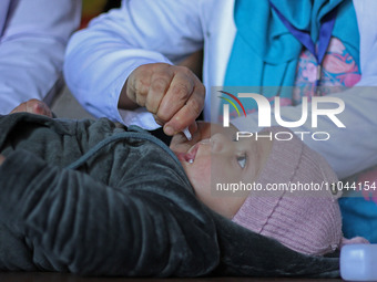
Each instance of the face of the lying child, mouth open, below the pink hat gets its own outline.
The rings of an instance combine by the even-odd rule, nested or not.
[[[211,181],[254,181],[269,155],[271,143],[253,138],[235,142],[233,133],[220,126],[212,127],[211,136],[210,125],[200,124],[193,140],[188,142],[183,136],[174,137],[171,148],[180,159],[198,199],[218,213],[232,218],[247,195],[212,195]]]

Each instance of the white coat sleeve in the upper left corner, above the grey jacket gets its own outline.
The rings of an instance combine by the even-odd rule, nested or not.
[[[0,114],[30,98],[51,98],[81,17],[80,0],[10,2],[0,36]]]

